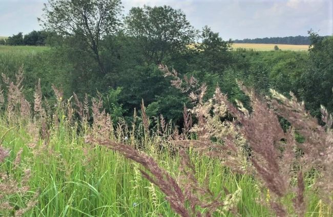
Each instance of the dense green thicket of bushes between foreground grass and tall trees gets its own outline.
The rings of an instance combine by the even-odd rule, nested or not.
[[[266,94],[269,88],[282,94],[292,91],[307,102],[307,108],[317,116],[320,104],[333,110],[331,38],[314,41],[309,53],[230,50],[226,46],[230,44],[218,40],[221,38],[211,34],[211,38],[207,37],[200,44],[200,49],[175,53],[168,65],[179,69],[181,76],[194,75],[207,83],[208,96],[213,95],[218,85],[231,100],[238,98],[246,105],[247,98],[236,84],[238,79],[260,94]],[[107,47],[101,57],[109,71],[105,75],[100,75],[95,59],[74,38],[61,42],[56,38],[54,43],[45,49],[0,48],[5,49],[0,52],[2,72],[14,77],[13,72],[24,64],[27,72],[24,86],[29,102],[33,100],[34,86],[40,78],[45,97],[53,102],[55,99],[48,88],[52,84],[61,87],[66,97],[73,91],[80,97],[85,93],[95,96],[97,89],[103,97],[109,98],[105,107],[110,113],[116,109],[116,116],[126,116],[130,121],[134,108],[139,108],[144,99],[150,116],[163,114],[167,120],[182,125],[181,110],[188,99],[168,86],[170,78],[163,77],[155,63],[147,61],[134,38],[120,34],[103,41]]]

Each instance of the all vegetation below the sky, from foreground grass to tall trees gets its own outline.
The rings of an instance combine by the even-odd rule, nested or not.
[[[332,215],[333,36],[259,51],[118,0],[39,21],[0,46],[1,215]]]

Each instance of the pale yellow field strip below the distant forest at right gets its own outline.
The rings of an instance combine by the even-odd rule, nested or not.
[[[249,48],[257,51],[270,51],[274,50],[274,46],[277,45],[280,50],[291,51],[307,51],[308,45],[278,45],[278,44],[233,44],[233,48]]]

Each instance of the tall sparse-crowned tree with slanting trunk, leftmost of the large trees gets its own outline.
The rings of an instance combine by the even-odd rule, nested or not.
[[[120,25],[120,0],[49,0],[43,11],[45,20],[38,20],[45,29],[60,36],[76,36],[94,53],[100,72],[106,74],[100,41]]]

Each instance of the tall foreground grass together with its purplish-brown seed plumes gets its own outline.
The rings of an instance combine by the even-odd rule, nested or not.
[[[145,120],[148,117],[144,113],[142,113],[143,123],[136,125],[139,117],[134,114],[131,128],[121,122],[114,128],[111,116],[102,109],[101,97],[92,98],[91,103],[88,97],[83,103],[76,99],[73,103],[72,97],[65,100],[61,95],[62,91],[54,86],[53,90],[57,98],[56,109],[49,113],[47,106],[40,103],[40,96],[43,95],[40,83],[36,85],[34,107],[30,110],[29,107],[22,106],[22,103],[25,103],[24,94],[20,92],[22,72],[17,74],[17,81],[14,82],[6,76],[3,77],[10,84],[7,98],[12,100],[6,102],[6,111],[0,119],[3,126],[0,130],[4,135],[2,140],[4,149],[0,149],[0,153],[5,153],[3,156],[7,160],[6,163],[1,164],[0,168],[1,171],[6,171],[6,175],[12,176],[18,185],[25,184],[31,190],[24,196],[22,192],[19,192],[3,198],[2,203],[6,206],[1,207],[1,214],[12,213],[14,206],[18,209],[16,214],[25,212],[25,216],[39,214],[80,216],[88,213],[91,216],[114,216],[115,214],[174,216],[175,213],[181,216],[270,216],[274,212],[267,209],[268,206],[272,206],[273,211],[279,216],[283,216],[283,212],[277,212],[283,211],[283,209],[277,209],[280,207],[287,207],[290,213],[293,207],[297,207],[298,215],[302,215],[305,211],[309,216],[313,212],[321,212],[322,216],[330,216],[332,213],[331,207],[317,198],[327,194],[316,194],[309,190],[315,185],[325,190],[325,187],[330,187],[328,183],[331,182],[315,182],[314,185],[317,177],[322,180],[331,179],[330,170],[324,169],[332,165],[331,162],[326,161],[330,159],[329,157],[322,158],[324,161],[317,157],[314,166],[318,169],[320,176],[316,173],[312,175],[303,173],[304,181],[300,178],[302,176],[299,175],[301,174],[299,171],[308,169],[312,164],[306,161],[307,167],[301,170],[296,167],[295,172],[298,174],[296,185],[294,185],[295,179],[286,181],[285,176],[281,176],[280,179],[279,175],[286,174],[285,171],[290,169],[286,167],[287,161],[279,161],[280,170],[272,170],[272,173],[263,173],[265,171],[259,170],[256,176],[253,176],[252,174],[256,173],[252,172],[237,174],[237,171],[243,171],[246,168],[268,168],[269,165],[268,169],[271,170],[277,168],[277,165],[272,163],[279,157],[285,160],[293,157],[282,156],[282,153],[289,153],[290,149],[279,149],[280,146],[289,144],[289,137],[285,141],[279,140],[279,136],[272,137],[272,131],[274,131],[273,135],[277,130],[278,135],[290,136],[293,135],[293,131],[284,134],[278,129],[279,124],[274,122],[272,126],[272,118],[269,117],[275,116],[274,120],[276,120],[275,111],[270,110],[259,99],[253,102],[254,112],[247,116],[246,110],[240,104],[240,111],[238,111],[225,101],[226,97],[221,93],[217,92],[214,100],[207,102],[202,101],[202,96],[198,96],[199,104],[196,104],[192,111],[193,114],[199,115],[198,120],[204,121],[204,125],[199,122],[190,131],[191,134],[198,133],[198,140],[188,140],[190,134],[186,133],[189,131],[184,129],[183,133],[179,134],[178,131],[171,130],[162,117],[158,121],[157,131],[143,128],[142,125],[150,121]],[[194,81],[184,81],[181,86],[185,89],[188,84],[198,87]],[[204,88],[194,91],[202,95]],[[299,156],[302,161],[309,160],[308,156],[321,154],[320,151],[316,152],[318,146],[313,146],[314,149],[312,149],[310,144],[315,138],[319,139],[321,148],[327,148],[327,145],[331,143],[329,137],[326,137],[331,136],[330,129],[317,126],[316,119],[309,119],[308,114],[304,114],[304,106],[298,104],[295,98],[288,100],[278,93],[274,92],[274,94],[283,103],[282,105],[274,104],[277,111],[288,115],[296,114],[297,119],[289,116],[291,119],[288,120],[294,123],[296,129],[305,137],[304,143],[299,144],[300,148],[305,150],[304,156],[296,156]],[[226,104],[222,105],[219,100],[223,100]],[[281,110],[284,108],[288,110],[287,113]],[[238,117],[236,122],[220,119],[228,110]],[[257,111],[258,114],[256,114]],[[262,115],[263,111],[268,116]],[[324,108],[322,112],[323,120],[331,124],[330,115]],[[76,115],[80,119],[75,119]],[[87,115],[92,117],[91,125],[87,122]],[[186,123],[190,121],[191,115],[186,108],[184,108],[184,117]],[[266,119],[269,123],[265,121]],[[259,122],[262,125],[259,125]],[[315,131],[311,128],[311,135],[307,134],[310,127],[308,124],[317,126]],[[15,127],[12,128],[12,126]],[[12,129],[7,131],[6,128]],[[210,131],[210,129],[213,130]],[[255,131],[246,133],[247,130]],[[206,135],[214,135],[219,140],[205,139]],[[225,135],[230,136],[225,137]],[[316,137],[313,137],[314,135]],[[263,139],[258,140],[259,138]],[[225,143],[222,143],[222,140]],[[254,140],[255,143],[253,143]],[[238,145],[243,147],[247,142],[251,145],[253,155],[249,159],[246,159],[247,155],[244,155],[245,158],[241,161],[246,167],[232,167],[233,170],[229,170],[223,166],[225,164],[237,166],[231,163],[237,163],[238,161],[235,160],[240,156],[234,155],[235,149],[228,149],[235,146],[227,141],[236,142],[236,147]],[[260,143],[257,143],[258,141]],[[264,146],[263,143],[265,143]],[[97,144],[104,147],[96,147]],[[191,148],[188,148],[189,146]],[[14,155],[20,156],[20,160],[15,160],[17,157],[8,156],[8,152],[3,151],[8,148],[13,149]],[[307,151],[310,150],[308,148],[311,151]],[[116,150],[116,152],[108,149]],[[266,151],[273,153],[272,157],[264,155]],[[120,154],[139,164],[124,159]],[[330,152],[325,154],[328,156]],[[227,157],[228,161],[224,161],[224,157]],[[266,160],[268,166],[255,164],[256,161]],[[21,181],[21,176],[17,173],[26,167],[31,168],[28,182]],[[140,172],[147,179],[142,179]],[[0,184],[6,184],[5,182],[1,180]],[[11,184],[15,182],[12,181]],[[284,193],[282,188],[284,184],[292,186],[286,192],[294,191],[295,187],[296,194],[283,195],[283,200],[277,200],[280,197],[277,192]],[[331,189],[327,189],[328,191]],[[307,199],[308,205],[304,205],[303,197]],[[86,200],[89,203],[86,203]]]

